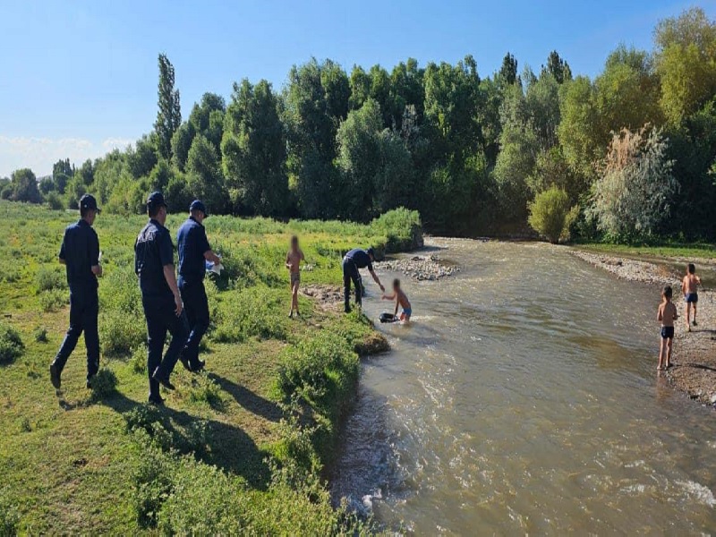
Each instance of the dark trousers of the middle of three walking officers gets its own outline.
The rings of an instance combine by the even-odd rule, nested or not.
[[[168,377],[176,361],[179,360],[184,344],[186,343],[186,328],[181,317],[175,315],[174,297],[147,298],[142,297],[144,316],[147,318],[147,372],[149,373],[149,396],[159,396],[159,383],[152,379],[152,374],[159,368],[159,375]],[[172,335],[172,342],[166,349],[164,360],[162,350],[166,332]]]

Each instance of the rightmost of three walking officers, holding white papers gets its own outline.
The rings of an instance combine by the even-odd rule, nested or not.
[[[183,366],[189,371],[201,371],[204,362],[199,359],[201,337],[209,328],[209,301],[204,290],[206,261],[219,263],[221,259],[209,246],[204,229],[204,218],[209,211],[200,200],[189,206],[189,217],[179,228],[176,247],[179,251],[179,292],[189,321],[189,338],[182,354]]]

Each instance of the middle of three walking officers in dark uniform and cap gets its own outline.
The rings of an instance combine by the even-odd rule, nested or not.
[[[134,243],[134,272],[140,278],[141,303],[147,319],[149,403],[162,405],[159,385],[174,389],[169,376],[186,342],[182,297],[176,286],[174,244],[166,222],[166,201],[161,192],[152,192],[147,200],[149,222]],[[172,342],[162,350],[167,330]]]

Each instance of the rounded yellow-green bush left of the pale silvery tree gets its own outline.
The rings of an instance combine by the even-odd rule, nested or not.
[[[566,241],[569,228],[579,215],[579,207],[569,208],[567,192],[552,186],[535,196],[534,201],[527,205],[530,226],[545,237],[550,243]]]

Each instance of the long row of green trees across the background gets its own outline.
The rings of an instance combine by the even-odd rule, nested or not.
[[[154,131],[80,167],[59,161],[39,193],[72,206],[94,192],[121,213],[161,189],[177,209],[198,197],[217,213],[364,221],[405,206],[436,233],[529,220],[553,240],[696,238],[716,232],[715,156],[716,23],[695,8],[661,21],[652,51],[618,47],[593,79],[557,52],[539,72],[507,54],[485,78],[472,56],[350,73],[311,59],[280,92],[243,80],[185,121],[159,55]],[[2,195],[25,199],[28,173]],[[555,218],[557,235],[539,227]]]

